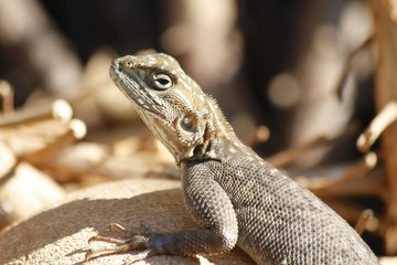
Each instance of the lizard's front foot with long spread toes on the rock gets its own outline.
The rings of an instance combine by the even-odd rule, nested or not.
[[[151,227],[147,223],[141,223],[141,225],[149,232]],[[107,242],[115,244],[112,247],[99,248],[99,250],[88,250],[85,255],[85,262],[88,262],[93,258],[99,256],[107,256],[112,254],[124,254],[132,251],[138,251],[132,254],[132,257],[125,261],[125,264],[132,264],[135,262],[144,259],[151,253],[151,250],[148,248],[149,235],[141,235],[130,231],[127,231],[119,224],[112,223],[109,225],[111,232],[117,232],[122,235],[122,240],[105,236],[93,236],[88,240],[88,243],[92,242]]]

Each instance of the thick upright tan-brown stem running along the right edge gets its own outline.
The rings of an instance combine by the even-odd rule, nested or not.
[[[391,21],[391,7],[387,0],[369,0],[374,18],[376,76],[375,98],[378,112],[397,99],[396,24]],[[382,152],[388,181],[385,242],[388,254],[397,253],[397,123],[390,124],[382,135]]]

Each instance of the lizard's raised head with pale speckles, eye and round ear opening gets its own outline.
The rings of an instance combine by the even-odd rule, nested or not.
[[[211,116],[208,96],[173,57],[127,55],[112,62],[110,76],[176,163],[195,156]]]

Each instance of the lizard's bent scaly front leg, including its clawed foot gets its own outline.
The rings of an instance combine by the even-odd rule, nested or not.
[[[144,259],[153,255],[218,254],[232,250],[237,242],[238,225],[232,202],[225,191],[214,181],[210,172],[196,174],[196,170],[187,170],[183,177],[185,202],[197,221],[200,229],[175,233],[155,233],[148,231],[136,234],[112,224],[114,232],[122,232],[125,240],[94,236],[89,240],[115,244],[101,250],[89,250],[86,261],[92,258],[131,252],[126,264]]]

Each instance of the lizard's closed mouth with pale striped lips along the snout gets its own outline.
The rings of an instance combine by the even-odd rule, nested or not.
[[[121,93],[137,104],[139,108],[162,116],[161,109],[151,99],[151,95],[144,89],[144,84],[140,81],[138,73],[127,73],[115,60],[109,70],[109,75]]]

